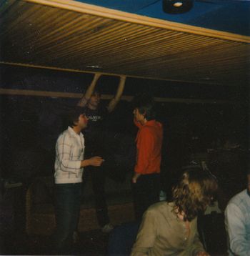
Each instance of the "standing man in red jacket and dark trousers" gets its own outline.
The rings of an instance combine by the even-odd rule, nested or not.
[[[152,100],[137,102],[134,108],[134,123],[139,127],[139,131],[136,137],[137,155],[132,178],[137,220],[141,219],[150,205],[159,201],[163,128],[155,118]]]

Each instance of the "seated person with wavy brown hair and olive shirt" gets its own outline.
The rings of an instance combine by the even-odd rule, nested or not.
[[[158,202],[144,213],[131,255],[209,255],[199,240],[196,217],[206,210],[217,189],[209,171],[186,170],[173,188],[172,202]]]

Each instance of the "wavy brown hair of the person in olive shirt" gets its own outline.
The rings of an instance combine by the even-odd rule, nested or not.
[[[216,197],[218,183],[211,172],[195,167],[187,169],[172,189],[174,212],[184,214],[184,221],[194,220]]]

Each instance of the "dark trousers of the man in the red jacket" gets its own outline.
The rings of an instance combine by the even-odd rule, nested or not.
[[[136,220],[141,220],[150,205],[159,202],[160,188],[160,174],[143,174],[136,183],[132,183]]]

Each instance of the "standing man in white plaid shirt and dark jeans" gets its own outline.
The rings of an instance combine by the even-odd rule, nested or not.
[[[88,123],[84,109],[77,107],[68,114],[69,127],[56,142],[55,161],[55,210],[56,251],[69,252],[74,231],[79,222],[81,207],[81,182],[84,167],[101,166],[104,159],[84,159],[84,135]]]

